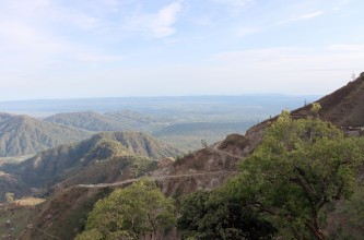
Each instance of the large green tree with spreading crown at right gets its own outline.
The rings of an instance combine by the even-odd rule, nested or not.
[[[329,122],[283,112],[244,159],[226,189],[251,205],[285,238],[325,239],[328,205],[349,197],[363,164],[364,141]]]

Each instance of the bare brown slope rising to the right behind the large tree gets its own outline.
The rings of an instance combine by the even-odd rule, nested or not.
[[[339,88],[338,91],[318,99],[321,105],[319,117],[322,120],[331,121],[339,128],[364,127],[364,73],[353,82]],[[312,105],[292,111],[294,118],[305,118],[312,116]],[[251,127],[246,134],[231,134],[224,141],[212,146],[197,151],[185,156],[173,165],[165,168],[164,172],[158,175],[181,175],[184,172],[213,172],[219,169],[230,172],[235,170],[235,164],[248,156],[261,142],[263,131],[278,117],[267,119],[266,121]],[[221,172],[223,176],[224,172]],[[209,177],[207,177],[209,178]],[[214,179],[214,180],[213,180]],[[222,179],[222,178],[221,178]],[[220,179],[220,180],[221,180]],[[211,181],[219,182],[215,175]],[[220,181],[219,183],[221,183]],[[165,183],[164,191],[168,194],[191,192],[204,188],[209,181],[204,182],[198,179],[174,180],[173,183]]]

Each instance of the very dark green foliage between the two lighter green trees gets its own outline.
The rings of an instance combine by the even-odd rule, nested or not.
[[[275,229],[222,190],[183,199],[177,226],[184,239],[269,239]]]

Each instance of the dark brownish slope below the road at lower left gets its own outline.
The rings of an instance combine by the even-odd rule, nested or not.
[[[33,217],[19,240],[74,239],[81,232],[95,202],[111,190],[68,188],[51,196]]]

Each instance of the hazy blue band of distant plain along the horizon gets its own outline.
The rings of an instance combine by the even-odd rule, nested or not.
[[[133,110],[148,115],[204,121],[210,113],[219,121],[228,119],[263,120],[283,109],[294,110],[319,96],[251,94],[239,96],[115,97],[83,99],[0,101],[0,112],[48,117],[59,112]],[[200,118],[200,120],[199,120]],[[215,117],[214,117],[215,118]],[[211,119],[210,119],[211,120]]]

